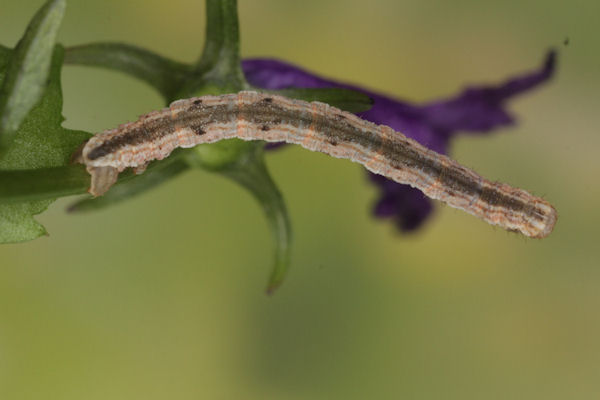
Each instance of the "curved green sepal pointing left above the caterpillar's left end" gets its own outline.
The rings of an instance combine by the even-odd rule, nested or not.
[[[65,63],[110,68],[132,75],[154,87],[165,100],[176,100],[192,68],[151,51],[122,43],[94,43],[70,47]]]

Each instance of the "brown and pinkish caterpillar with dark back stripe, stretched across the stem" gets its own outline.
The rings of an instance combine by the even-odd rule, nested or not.
[[[177,147],[234,137],[295,143],[348,158],[433,199],[530,237],[548,236],[556,222],[556,211],[545,200],[490,182],[387,126],[324,103],[256,92],[178,100],[169,108],[94,136],[79,160],[92,175],[90,193],[98,196],[125,168],[143,171],[148,162],[167,157]]]

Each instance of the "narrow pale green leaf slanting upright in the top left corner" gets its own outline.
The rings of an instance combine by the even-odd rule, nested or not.
[[[42,96],[64,11],[65,0],[48,1],[12,53],[0,88],[0,150],[12,143],[19,125]]]

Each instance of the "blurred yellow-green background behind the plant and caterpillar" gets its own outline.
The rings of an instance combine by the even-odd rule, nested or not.
[[[2,0],[13,46],[41,0]],[[600,395],[597,1],[239,0],[244,56],[274,56],[419,102],[499,82],[559,49],[518,126],[452,155],[543,195],[527,240],[437,204],[400,235],[369,215],[356,164],[268,155],[294,223],[293,269],[263,289],[266,222],[241,188],[192,171],[117,207],[39,217],[0,248],[0,399],[595,399]],[[569,44],[563,44],[565,38]],[[204,2],[70,0],[65,45],[198,56]],[[65,67],[65,125],[100,131],[162,107],[119,73]]]

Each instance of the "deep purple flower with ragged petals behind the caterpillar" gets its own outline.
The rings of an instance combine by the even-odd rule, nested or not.
[[[373,107],[358,113],[361,118],[388,125],[438,153],[446,154],[450,138],[459,132],[484,133],[511,125],[514,118],[504,109],[506,100],[548,80],[554,72],[555,52],[550,51],[538,70],[506,80],[497,86],[469,87],[458,96],[422,105],[410,104],[369,90],[321,78],[292,64],[272,59],[242,62],[246,79],[265,89],[290,87],[342,87],[370,96]],[[380,189],[373,212],[377,217],[394,218],[401,231],[418,228],[431,214],[431,201],[420,191],[381,175],[369,173]]]

